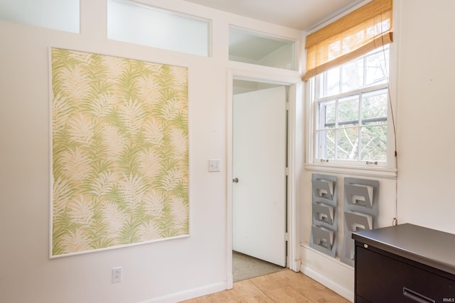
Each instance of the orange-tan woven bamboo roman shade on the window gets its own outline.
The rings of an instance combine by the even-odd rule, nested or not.
[[[392,42],[392,0],[372,0],[306,37],[306,74],[319,75]]]

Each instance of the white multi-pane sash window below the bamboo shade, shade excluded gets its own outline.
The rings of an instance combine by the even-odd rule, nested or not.
[[[313,78],[314,162],[387,165],[388,45]]]

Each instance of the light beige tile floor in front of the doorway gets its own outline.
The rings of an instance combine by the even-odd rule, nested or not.
[[[232,290],[216,292],[185,303],[349,303],[301,272],[282,270],[234,283]]]

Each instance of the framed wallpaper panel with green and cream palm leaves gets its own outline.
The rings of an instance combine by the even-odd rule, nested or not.
[[[188,69],[52,48],[51,256],[188,235]]]

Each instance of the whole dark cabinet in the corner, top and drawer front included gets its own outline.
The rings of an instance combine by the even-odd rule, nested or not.
[[[353,239],[355,302],[455,302],[455,235],[402,224]]]

